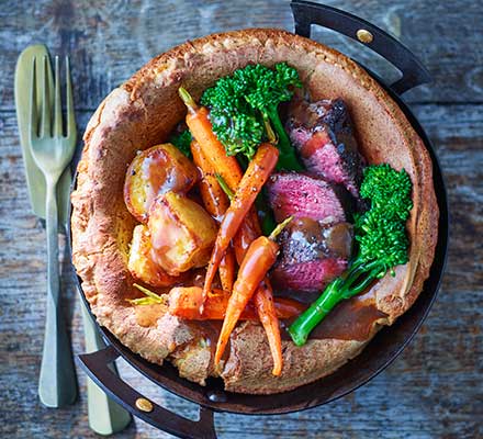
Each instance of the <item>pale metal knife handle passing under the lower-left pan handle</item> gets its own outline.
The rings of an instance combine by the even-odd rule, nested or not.
[[[82,300],[80,307],[82,308],[86,352],[105,349],[106,345]],[[111,367],[113,373],[117,374],[115,363]],[[87,379],[87,407],[89,427],[99,435],[109,436],[122,431],[131,423],[130,413],[112,401],[90,378]]]

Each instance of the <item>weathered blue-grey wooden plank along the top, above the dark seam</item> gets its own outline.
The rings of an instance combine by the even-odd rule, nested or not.
[[[326,1],[387,30],[417,54],[435,82],[409,92],[412,102],[483,102],[483,8],[460,0]],[[29,12],[25,12],[29,11]],[[0,110],[13,109],[15,59],[29,44],[45,43],[72,58],[76,103],[96,109],[112,88],[153,56],[212,32],[266,26],[293,29],[289,1],[162,2],[138,0],[8,1],[0,11]],[[383,76],[384,60],[332,32],[315,38],[346,52]]]

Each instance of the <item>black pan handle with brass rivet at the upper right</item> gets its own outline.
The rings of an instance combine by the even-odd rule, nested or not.
[[[403,76],[390,86],[397,94],[431,81],[428,70],[419,59],[406,46],[382,29],[326,4],[293,0],[290,5],[296,34],[308,38],[311,36],[311,25],[318,24],[358,41],[397,67]]]

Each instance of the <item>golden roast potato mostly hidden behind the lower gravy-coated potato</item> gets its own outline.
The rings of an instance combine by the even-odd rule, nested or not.
[[[170,286],[181,279],[169,275],[151,257],[149,229],[139,224],[134,227],[127,269],[134,279],[151,286]]]

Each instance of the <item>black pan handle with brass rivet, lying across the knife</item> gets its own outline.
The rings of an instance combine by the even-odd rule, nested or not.
[[[191,420],[153,403],[121,380],[110,368],[119,357],[112,347],[78,356],[81,368],[116,403],[153,426],[190,439],[216,439],[213,410],[200,406],[200,419]]]

